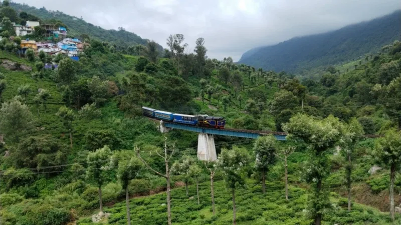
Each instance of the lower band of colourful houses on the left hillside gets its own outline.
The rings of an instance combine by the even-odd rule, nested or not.
[[[83,51],[84,44],[78,38],[64,38],[63,40],[53,43],[53,42],[36,42],[35,40],[22,40],[21,49],[22,52],[29,48],[33,49],[35,52],[44,51],[51,55],[65,54],[68,55],[73,60],[79,60],[79,53]]]

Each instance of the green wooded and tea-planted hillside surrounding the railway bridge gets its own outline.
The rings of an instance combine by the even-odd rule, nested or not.
[[[79,61],[0,41],[2,224],[401,222],[398,40],[318,80],[208,58],[202,37],[193,53],[183,34],[163,52],[86,40]],[[160,133],[142,105],[287,141],[216,135],[199,161],[196,133]]]

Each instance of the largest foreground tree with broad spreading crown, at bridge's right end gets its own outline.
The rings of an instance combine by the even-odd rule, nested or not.
[[[342,123],[330,115],[323,120],[305,114],[291,117],[283,128],[290,134],[289,138],[299,139],[308,145],[308,161],[304,166],[304,179],[312,183],[312,193],[308,196],[308,207],[315,225],[320,225],[323,212],[330,208],[327,190],[323,188],[323,179],[330,173],[327,154],[336,140],[341,137]]]

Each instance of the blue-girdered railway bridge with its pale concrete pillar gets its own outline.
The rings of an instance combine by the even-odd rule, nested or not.
[[[171,129],[183,129],[188,131],[198,132],[197,139],[197,158],[199,160],[215,161],[217,159],[216,146],[214,135],[225,135],[225,136],[238,136],[246,138],[258,138],[262,135],[273,134],[278,140],[286,140],[287,134],[284,132],[274,132],[267,130],[249,130],[249,129],[216,129],[201,126],[190,126],[184,124],[178,124],[173,122],[167,122],[160,120],[159,130],[160,132],[168,132]]]

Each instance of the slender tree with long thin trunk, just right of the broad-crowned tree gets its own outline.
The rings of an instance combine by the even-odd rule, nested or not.
[[[340,139],[341,149],[344,151],[348,164],[345,167],[347,189],[348,189],[348,211],[351,211],[351,185],[352,185],[352,156],[355,144],[362,138],[364,131],[361,124],[352,118],[348,124],[345,125],[344,133]]]

